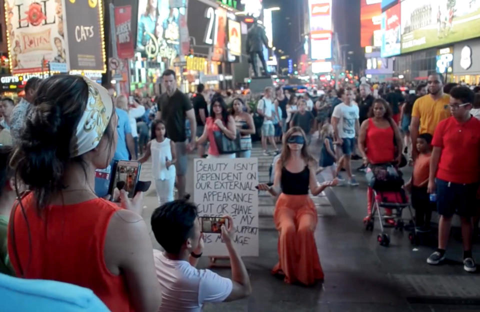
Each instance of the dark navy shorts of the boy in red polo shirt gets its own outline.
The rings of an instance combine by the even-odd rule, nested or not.
[[[446,217],[455,213],[465,217],[476,215],[478,183],[458,184],[438,178],[435,181],[438,214]]]

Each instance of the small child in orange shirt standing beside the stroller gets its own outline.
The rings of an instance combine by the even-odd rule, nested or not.
[[[411,179],[405,184],[405,189],[411,193],[411,205],[415,209],[415,225],[420,231],[430,229],[431,210],[435,208],[426,188],[430,174],[431,139],[430,133],[419,134],[416,138],[418,157],[413,166]]]

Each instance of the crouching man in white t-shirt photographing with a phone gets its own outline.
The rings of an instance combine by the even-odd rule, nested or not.
[[[233,301],[251,293],[250,279],[234,242],[234,225],[224,216],[221,239],[228,250],[231,279],[195,268],[203,252],[202,225],[196,205],[186,200],[167,202],[151,215],[151,229],[165,250],[153,249],[156,277],[162,291],[159,311],[201,311],[204,302]],[[210,228],[214,223],[210,222]]]

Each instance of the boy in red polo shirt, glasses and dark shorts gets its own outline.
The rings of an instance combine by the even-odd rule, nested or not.
[[[435,129],[430,160],[428,192],[437,194],[438,248],[427,263],[438,264],[445,258],[445,247],[454,213],[461,219],[463,268],[476,270],[471,255],[471,216],[476,213],[476,190],[480,180],[480,120],[470,114],[473,92],[464,86],[450,91],[452,116]],[[436,179],[435,179],[436,177]]]

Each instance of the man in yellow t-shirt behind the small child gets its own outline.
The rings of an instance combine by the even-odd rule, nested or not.
[[[443,76],[433,72],[428,75],[428,93],[415,100],[411,111],[410,136],[416,142],[416,137],[421,133],[433,135],[436,125],[450,116],[450,95],[443,94]],[[412,147],[411,157],[416,159],[416,148]]]

